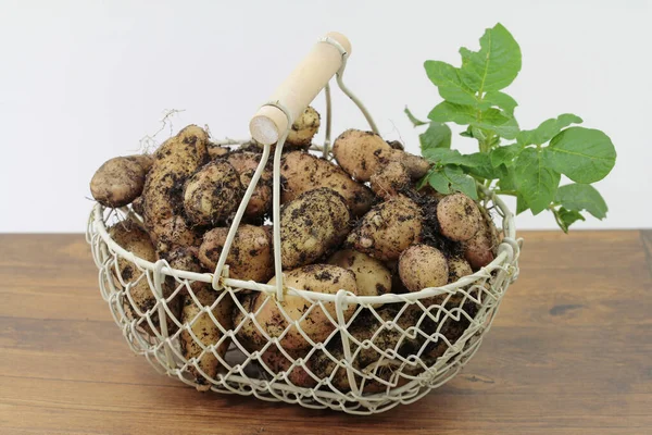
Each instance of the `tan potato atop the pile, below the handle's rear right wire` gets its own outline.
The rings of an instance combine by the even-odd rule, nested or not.
[[[333,154],[338,164],[359,182],[368,182],[390,162],[393,151],[380,136],[359,129],[346,130],[333,144]]]

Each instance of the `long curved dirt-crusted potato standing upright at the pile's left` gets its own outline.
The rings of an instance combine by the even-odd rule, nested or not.
[[[184,184],[208,161],[208,134],[197,125],[181,129],[154,152],[142,189],[145,225],[160,252],[196,246],[200,233],[184,214]]]

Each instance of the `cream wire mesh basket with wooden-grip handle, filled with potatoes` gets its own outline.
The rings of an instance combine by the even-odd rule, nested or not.
[[[284,103],[287,99],[275,98],[261,109],[267,114],[268,109],[277,110],[285,119],[277,117],[272,134],[267,130],[266,137],[259,140],[269,144],[264,144],[261,163],[235,215],[214,273],[173,269],[165,260],[146,261],[123,249],[111,238],[108,227],[129,220],[140,221],[130,208],[108,209],[96,203],[88,222],[87,241],[99,269],[102,297],[109,303],[113,319],[131,350],[145,356],[159,372],[202,390],[372,414],[419,399],[452,378],[469,361],[489,331],[509,285],[518,275],[521,240],[515,238],[513,214],[493,192],[482,189],[482,206],[486,210],[494,210],[502,220],[503,238],[490,264],[455,283],[383,296],[356,296],[343,289],[333,295],[287,287],[283,285],[280,233],[276,224],[276,284],[229,278],[226,258],[268,160],[269,145],[277,144],[273,165],[273,222],[276,223],[279,222],[279,165],[285,138],[296,114],[322,88],[327,107],[326,139],[323,146],[312,149],[331,158],[328,79],[334,74],[340,89],[361,109],[371,128],[377,130],[364,105],[342,83],[350,52],[346,38],[342,40],[340,35],[329,34],[319,41],[317,49],[330,50],[329,55],[335,52],[339,60],[331,73],[322,72],[325,84],[313,84],[310,92],[303,92],[303,101],[298,99],[287,104]],[[324,52],[313,51],[313,54],[323,59]],[[314,71],[306,69],[314,62],[308,60],[298,71],[314,76]],[[323,62],[319,69],[328,70]],[[298,82],[304,83],[305,77],[294,75],[288,80],[294,85],[294,92]],[[253,128],[252,134],[256,138]],[[135,271],[129,279],[118,272],[118,263],[125,261]],[[151,291],[155,300],[147,310],[138,309],[134,300],[134,291],[142,288]],[[264,299],[252,311],[248,302],[259,293]],[[206,295],[211,296],[206,298]],[[181,296],[195,310],[195,315],[185,322],[177,319],[172,309]],[[292,318],[284,310],[285,298],[304,301],[301,318]],[[274,336],[258,323],[258,314],[266,304],[276,304],[285,318],[285,327]],[[216,315],[217,310],[225,307],[235,319],[231,324],[221,322]],[[319,310],[331,332],[325,339],[313,340],[304,331],[304,321]],[[218,330],[215,339],[208,345],[195,327],[201,322],[212,322]],[[246,327],[258,328],[264,343],[252,347],[242,339],[239,333]],[[286,348],[284,339],[292,334],[302,337],[309,346],[301,351]],[[181,350],[183,340],[190,340],[199,353],[186,358]],[[210,366],[216,370],[206,369],[209,360]]]

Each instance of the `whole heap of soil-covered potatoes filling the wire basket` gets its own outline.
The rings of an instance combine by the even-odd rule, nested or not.
[[[403,151],[398,142],[349,129],[334,142],[336,164],[308,152],[318,126],[318,114],[306,109],[284,146],[277,224],[286,286],[323,294],[346,289],[364,296],[419,291],[454,282],[493,260],[498,232],[486,210],[463,194],[442,196],[429,187],[416,189],[415,183],[429,170],[428,162]],[[124,249],[149,261],[165,259],[175,269],[213,272],[261,157],[262,148],[254,142],[237,149],[216,146],[204,129],[190,125],[151,156],[109,160],[92,177],[90,189],[103,206],[131,204],[142,217],[142,223],[126,220],[109,228]],[[268,162],[228,253],[229,277],[275,283],[271,210]],[[116,282],[130,282],[138,271],[121,259],[114,273]],[[164,296],[170,299],[177,285],[168,277]],[[334,335],[334,303],[313,306],[291,295],[277,301],[259,291],[239,291],[238,303],[231,295],[215,303],[221,293],[210,284],[195,282],[191,290],[195,298],[184,290],[166,306],[179,323],[195,320],[191,327],[181,330],[179,341],[184,356],[197,359],[192,361],[205,375],[214,378],[218,373],[222,363],[216,356],[224,357],[230,335],[224,332],[231,330],[249,351],[262,350],[271,337],[279,337],[260,358],[267,371],[285,372],[294,385],[311,387],[330,376],[336,388],[350,388],[346,371],[333,360],[343,358],[342,337]],[[142,326],[158,330],[158,312],[152,310],[156,298],[147,279],[137,281],[129,294],[130,300],[124,299],[129,319],[149,312],[150,322]],[[422,303],[426,309],[459,308],[473,316],[478,307],[471,300],[452,295],[422,299]],[[212,307],[212,312],[202,307]],[[448,348],[444,340],[426,340],[423,334],[405,337],[401,330],[418,323],[425,334],[440,334],[454,343],[469,324],[464,315],[460,320],[442,316],[446,324],[437,324],[417,304],[401,308],[387,303],[374,306],[375,313],[366,308],[358,313],[348,328],[348,340],[352,349],[363,341],[374,346],[354,352],[356,369],[389,380],[396,364],[379,364],[381,355],[375,348],[402,357],[419,352],[423,360],[434,362]],[[346,320],[358,309],[350,304]],[[379,319],[399,327],[388,328]],[[178,330],[171,319],[166,325],[170,334]],[[199,341],[215,346],[216,355],[204,351]],[[326,341],[325,350],[305,358],[315,344]],[[297,358],[305,361],[309,371],[292,365]],[[190,371],[198,384],[209,386],[193,365]],[[364,390],[384,388],[369,381]]]

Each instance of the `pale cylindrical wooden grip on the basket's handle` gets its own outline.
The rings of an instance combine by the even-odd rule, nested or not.
[[[351,42],[346,36],[331,32],[326,37],[339,42],[347,53],[351,53]],[[292,120],[297,120],[341,65],[342,55],[337,47],[318,42],[274,91],[269,101],[285,107]],[[274,105],[263,105],[249,123],[251,137],[263,145],[276,144],[287,127],[285,113]]]

